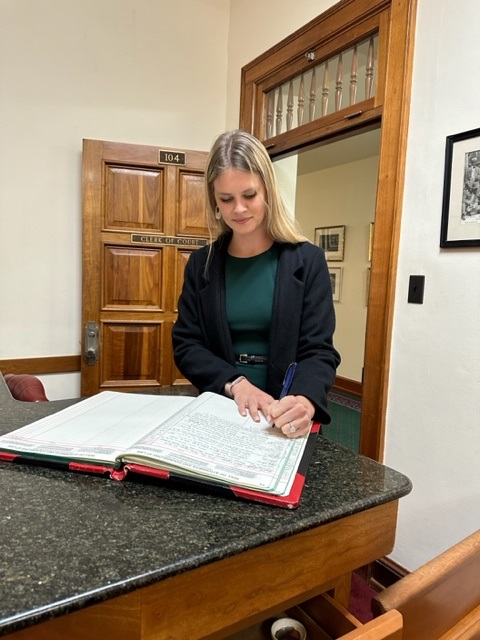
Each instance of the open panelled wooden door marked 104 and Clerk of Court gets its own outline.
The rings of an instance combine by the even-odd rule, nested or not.
[[[82,396],[182,384],[171,332],[206,244],[207,153],[84,140]]]

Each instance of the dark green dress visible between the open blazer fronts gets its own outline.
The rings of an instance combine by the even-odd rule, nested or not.
[[[268,357],[278,247],[273,245],[253,258],[227,254],[225,285],[227,319],[236,355]],[[236,363],[240,373],[265,390],[267,365]]]

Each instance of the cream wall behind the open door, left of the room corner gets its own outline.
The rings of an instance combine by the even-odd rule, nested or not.
[[[0,0],[0,358],[80,353],[82,138],[209,149],[229,9]],[[42,379],[79,395],[78,374]]]

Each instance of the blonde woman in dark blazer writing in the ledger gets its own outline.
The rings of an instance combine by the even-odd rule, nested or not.
[[[323,251],[303,237],[279,195],[263,144],[244,131],[215,141],[206,208],[216,240],[185,268],[173,329],[175,362],[201,392],[233,398],[287,437],[330,422],[327,393],[340,357]],[[214,231],[212,231],[214,230]],[[297,367],[280,397],[290,363]]]

